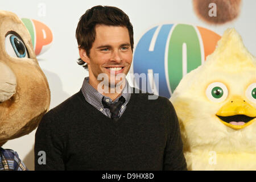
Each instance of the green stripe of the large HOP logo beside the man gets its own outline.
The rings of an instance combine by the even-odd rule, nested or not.
[[[188,24],[177,24],[168,48],[168,78],[172,92],[183,77],[183,43],[187,46],[187,73],[201,65],[200,42],[195,28]]]

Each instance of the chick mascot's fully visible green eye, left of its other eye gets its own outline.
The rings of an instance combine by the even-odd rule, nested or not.
[[[208,99],[213,102],[222,102],[228,97],[228,89],[221,82],[210,84],[205,93]]]

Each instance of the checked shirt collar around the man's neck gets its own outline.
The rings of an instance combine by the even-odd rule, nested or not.
[[[115,103],[119,100],[119,97],[123,96],[125,98],[125,103],[121,106],[121,109],[119,110],[118,117],[120,118],[123,114],[123,112],[126,109],[126,105],[128,104],[130,97],[131,97],[131,87],[126,80],[125,88],[122,91],[122,94],[115,99],[113,102],[111,98],[103,96],[100,92],[95,90],[90,84],[89,84],[89,77],[84,78],[84,82],[82,84],[82,94],[84,95],[84,98],[87,102],[89,102],[90,105],[101,111],[102,114],[106,115],[107,117],[111,117],[110,110],[108,108],[104,108],[102,104],[102,98],[104,101],[109,103]]]

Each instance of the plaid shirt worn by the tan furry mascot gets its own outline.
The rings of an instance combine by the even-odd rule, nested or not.
[[[17,152],[0,147],[0,171],[27,171]]]

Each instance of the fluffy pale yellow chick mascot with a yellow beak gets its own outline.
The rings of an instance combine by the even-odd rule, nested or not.
[[[172,94],[190,170],[256,170],[256,59],[234,29]]]

